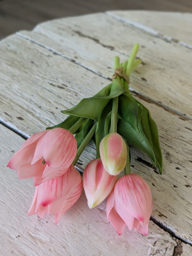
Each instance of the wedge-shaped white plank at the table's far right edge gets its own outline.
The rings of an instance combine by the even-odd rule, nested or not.
[[[158,37],[192,48],[192,13],[132,10],[110,11],[107,14]]]

